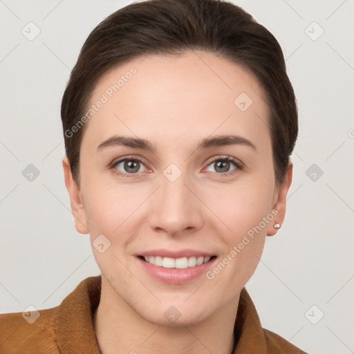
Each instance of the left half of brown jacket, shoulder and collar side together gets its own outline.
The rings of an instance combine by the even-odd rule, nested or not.
[[[0,315],[0,354],[100,353],[92,324],[101,277],[88,277],[59,306]]]

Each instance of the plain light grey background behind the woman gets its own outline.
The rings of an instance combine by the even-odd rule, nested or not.
[[[64,185],[60,103],[89,32],[131,2],[0,1],[0,313],[57,306],[100,274]],[[234,3],[281,44],[300,124],[286,221],[247,288],[265,328],[310,353],[354,353],[354,2]]]

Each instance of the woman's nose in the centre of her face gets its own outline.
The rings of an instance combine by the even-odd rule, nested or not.
[[[160,181],[149,212],[153,230],[170,236],[200,230],[205,220],[205,210],[198,198],[201,194],[198,186],[188,180],[187,174],[181,174],[176,180],[168,174],[162,175]]]

